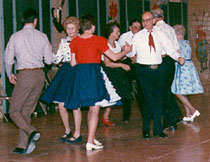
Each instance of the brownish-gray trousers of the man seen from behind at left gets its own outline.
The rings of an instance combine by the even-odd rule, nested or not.
[[[12,92],[9,114],[19,128],[19,148],[27,148],[30,134],[36,130],[31,125],[34,112],[45,82],[43,70],[25,70],[17,74]]]

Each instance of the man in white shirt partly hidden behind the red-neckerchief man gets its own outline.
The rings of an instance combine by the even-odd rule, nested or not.
[[[153,9],[155,19],[155,28],[163,32],[171,41],[174,50],[179,51],[179,43],[176,38],[174,29],[164,22],[164,13],[160,8]],[[171,93],[171,85],[175,73],[175,61],[169,57],[166,51],[162,50],[163,62],[160,66],[162,71],[162,90],[163,90],[163,128],[175,131],[177,128],[177,119],[181,116],[181,111],[176,102],[175,96]]]

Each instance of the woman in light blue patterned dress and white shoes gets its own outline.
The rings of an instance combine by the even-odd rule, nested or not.
[[[172,83],[171,91],[184,104],[186,116],[183,121],[194,121],[200,112],[192,106],[186,95],[204,93],[197,70],[191,61],[191,47],[188,40],[184,40],[185,28],[182,25],[175,25],[177,39],[179,41],[181,56],[185,58],[185,64],[181,66],[176,63],[176,72]]]

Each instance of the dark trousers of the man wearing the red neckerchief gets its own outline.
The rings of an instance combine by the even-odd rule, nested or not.
[[[149,131],[153,119],[153,134],[162,133],[162,92],[160,70],[137,64],[136,76],[144,95],[143,131]]]

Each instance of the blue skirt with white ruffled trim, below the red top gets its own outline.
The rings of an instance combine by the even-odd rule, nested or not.
[[[117,104],[120,99],[99,64],[77,64],[74,67],[64,107],[67,109],[95,105],[106,107]]]

